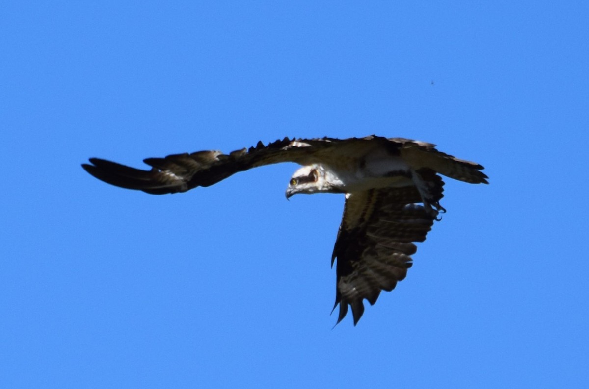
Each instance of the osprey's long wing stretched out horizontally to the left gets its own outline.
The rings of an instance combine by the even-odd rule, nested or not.
[[[252,167],[279,162],[297,162],[302,165],[321,163],[326,160],[345,159],[354,153],[362,155],[373,142],[391,143],[386,138],[320,138],[276,140],[264,146],[223,154],[216,150],[168,155],[164,158],[147,158],[144,162],[151,170],[140,170],[100,158],[90,158],[90,164],[82,167],[92,176],[112,185],[127,189],[139,189],[154,195],[186,192],[197,186],[210,186],[227,177]],[[393,142],[394,143],[394,142]],[[392,144],[392,143],[391,143]],[[326,152],[329,150],[329,152]]]

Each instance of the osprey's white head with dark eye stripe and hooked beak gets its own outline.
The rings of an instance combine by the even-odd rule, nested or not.
[[[337,189],[337,180],[330,179],[330,173],[326,172],[323,166],[303,166],[290,177],[289,187],[286,189],[286,199],[297,193],[341,193]]]

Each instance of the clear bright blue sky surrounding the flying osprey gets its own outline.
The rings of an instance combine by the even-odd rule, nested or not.
[[[1,387],[589,383],[583,1],[0,5]],[[332,329],[343,196],[296,165],[150,196],[80,163],[284,136],[436,143],[491,184]]]

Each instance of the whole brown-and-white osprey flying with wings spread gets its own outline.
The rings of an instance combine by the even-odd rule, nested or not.
[[[223,154],[200,151],[144,160],[139,170],[91,158],[82,167],[112,185],[154,195],[210,186],[237,172],[279,162],[303,165],[294,172],[286,197],[297,193],[342,193],[346,202],[332,254],[336,265],[337,323],[352,308],[354,325],[380,291],[391,291],[412,265],[413,242],[423,242],[439,212],[444,175],[488,183],[474,162],[439,152],[431,143],[404,138],[320,138],[277,140]]]

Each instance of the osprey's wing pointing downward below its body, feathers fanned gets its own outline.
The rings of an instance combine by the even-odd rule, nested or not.
[[[435,203],[444,196],[444,182],[433,170],[419,174]],[[370,189],[346,195],[342,224],[333,249],[336,265],[336,299],[339,323],[352,307],[354,325],[364,313],[363,300],[373,305],[381,290],[391,291],[407,275],[411,255],[431,229],[437,211],[428,212],[414,186]]]

